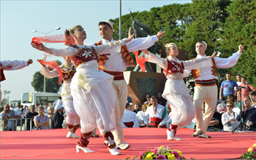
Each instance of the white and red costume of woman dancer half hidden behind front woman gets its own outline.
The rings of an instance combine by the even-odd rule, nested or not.
[[[63,80],[63,86],[61,89],[61,100],[67,115],[64,120],[64,123],[67,125],[68,128],[67,138],[79,138],[75,135],[75,132],[80,126],[80,118],[77,115],[76,110],[73,106],[73,97],[70,94],[70,83],[72,77],[76,73],[76,68],[74,65],[69,67],[65,66],[64,64],[60,65],[59,68],[62,72]],[[45,66],[40,70],[40,73],[46,78],[54,78],[59,76],[59,73],[56,69],[49,71]]]

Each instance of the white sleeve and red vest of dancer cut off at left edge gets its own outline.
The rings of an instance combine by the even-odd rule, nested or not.
[[[24,67],[27,67],[28,61],[25,60],[4,60],[1,61],[0,66],[1,67],[5,67],[5,66],[12,66],[12,68],[5,68],[5,69],[1,69],[1,82],[5,80],[5,76],[4,76],[4,70],[18,70]],[[0,83],[0,103],[2,101],[2,91],[1,91],[1,83]]]

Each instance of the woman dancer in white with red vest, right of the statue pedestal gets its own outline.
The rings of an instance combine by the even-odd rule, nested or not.
[[[141,51],[146,54],[145,58],[153,58],[148,60],[149,62],[157,63],[164,69],[167,78],[162,95],[172,109],[172,124],[166,131],[167,140],[182,140],[175,136],[176,131],[185,125],[189,125],[196,115],[193,98],[189,94],[190,90],[183,81],[183,71],[186,68],[212,66],[212,59],[208,56],[202,59],[180,61],[176,58],[179,55],[179,50],[175,43],[166,44],[165,50],[167,53],[166,59],[159,58],[148,50]]]

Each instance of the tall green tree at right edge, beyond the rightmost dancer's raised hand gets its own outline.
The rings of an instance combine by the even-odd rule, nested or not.
[[[247,82],[256,86],[256,1],[232,1],[226,11],[229,16],[220,41],[225,57],[237,51],[239,44],[244,46],[243,54],[230,72],[246,76]]]

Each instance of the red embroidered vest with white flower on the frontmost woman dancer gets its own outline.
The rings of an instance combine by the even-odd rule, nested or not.
[[[85,47],[80,48],[77,45],[72,45],[72,47],[78,49],[79,51],[75,56],[69,56],[76,68],[80,64],[91,60],[99,61],[99,55],[93,47],[91,47],[91,49]]]

